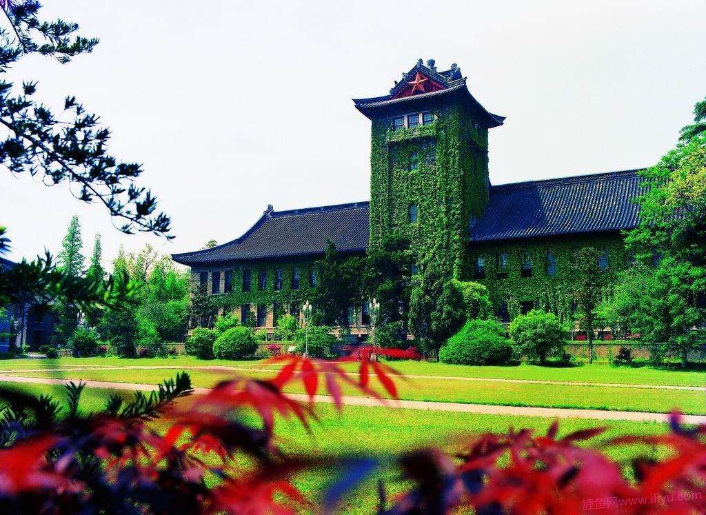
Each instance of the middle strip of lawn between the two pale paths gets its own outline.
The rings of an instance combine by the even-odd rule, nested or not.
[[[23,372],[23,376],[156,384],[164,378],[173,377],[178,371],[178,368],[174,370],[85,368],[53,372]],[[188,372],[194,386],[205,387],[213,386],[217,381],[232,378],[234,373],[248,374],[251,377],[270,377],[272,375],[270,372],[239,371],[232,373],[220,369],[191,369]],[[372,384],[378,386],[375,379]],[[407,377],[397,380],[397,387],[400,398],[413,401],[654,411],[658,413],[669,413],[670,410],[678,408],[684,413],[696,415],[706,413],[706,392],[704,391],[660,390],[630,388],[629,386],[468,381],[451,377],[445,379]],[[345,386],[343,390],[347,394],[359,394],[348,386]],[[299,384],[294,384],[287,391],[303,392],[304,390]]]

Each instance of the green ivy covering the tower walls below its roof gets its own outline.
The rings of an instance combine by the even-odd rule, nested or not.
[[[370,246],[400,231],[420,264],[436,261],[460,278],[468,264],[469,220],[488,203],[488,131],[461,105],[433,112],[433,123],[398,131],[391,130],[393,113],[373,119]],[[415,223],[409,222],[412,204],[419,210]]]

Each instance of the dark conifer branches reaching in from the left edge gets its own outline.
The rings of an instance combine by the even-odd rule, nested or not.
[[[66,64],[97,45],[95,38],[76,35],[76,23],[40,19],[41,7],[35,0],[0,2],[1,13],[9,22],[8,29],[0,30],[1,76],[30,54]],[[110,131],[99,118],[71,96],[66,97],[63,112],[57,116],[35,101],[36,92],[36,82],[18,86],[0,78],[0,125],[8,135],[0,141],[0,162],[6,169],[15,175],[39,177],[49,186],[73,186],[71,191],[78,192],[80,201],[98,201],[115,220],[121,220],[119,230],[123,232],[152,232],[171,238],[169,217],[155,212],[156,197],[136,183],[142,167],[107,153]],[[6,227],[0,227],[0,254],[9,243]],[[132,291],[126,287],[110,278],[99,285],[66,273],[47,252],[35,261],[23,260],[0,271],[0,304],[48,304],[61,299],[81,309],[118,307],[130,300]]]

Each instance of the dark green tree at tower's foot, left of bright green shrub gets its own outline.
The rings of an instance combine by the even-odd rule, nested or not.
[[[409,329],[419,338],[424,352],[437,355],[465,319],[466,305],[460,287],[447,280],[435,265],[427,266],[409,299]]]

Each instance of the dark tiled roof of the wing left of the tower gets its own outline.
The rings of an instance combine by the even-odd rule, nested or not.
[[[241,237],[213,249],[172,254],[177,263],[198,265],[244,259],[316,256],[328,241],[342,252],[368,247],[368,202],[273,211],[272,206]]]

